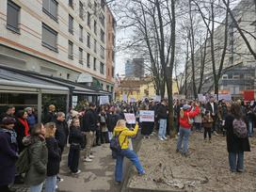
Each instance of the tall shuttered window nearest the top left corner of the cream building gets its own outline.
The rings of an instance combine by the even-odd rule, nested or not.
[[[20,15],[20,7],[14,4],[11,1],[8,1],[8,21],[7,27],[8,29],[20,33],[19,28],[19,15]]]

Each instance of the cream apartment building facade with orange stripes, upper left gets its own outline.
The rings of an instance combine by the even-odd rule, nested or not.
[[[1,0],[0,65],[110,92],[115,27],[104,0]]]

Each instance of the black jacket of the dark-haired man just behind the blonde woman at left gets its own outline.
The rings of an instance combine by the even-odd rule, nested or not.
[[[56,140],[61,151],[63,151],[65,145],[67,144],[68,136],[69,128],[67,122],[65,120],[56,120]]]

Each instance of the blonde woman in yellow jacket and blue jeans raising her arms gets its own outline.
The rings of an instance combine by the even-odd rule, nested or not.
[[[115,178],[117,184],[120,184],[122,180],[122,162],[123,157],[127,157],[132,161],[132,163],[135,165],[137,172],[139,175],[145,174],[144,168],[142,168],[138,157],[136,155],[136,152],[129,149],[129,136],[136,136],[136,133],[138,131],[138,124],[136,123],[135,129],[129,130],[126,127],[126,121],[125,120],[119,120],[117,122],[117,126],[114,129],[114,136],[119,136],[120,141],[120,147],[121,152],[117,154],[117,162],[116,162],[116,171],[115,171]]]

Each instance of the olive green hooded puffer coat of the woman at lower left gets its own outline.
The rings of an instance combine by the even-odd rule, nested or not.
[[[25,136],[24,146],[28,147],[30,168],[25,174],[25,184],[41,184],[46,177],[48,150],[45,139],[40,136]]]

